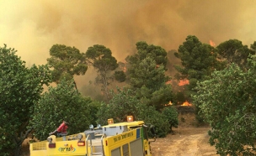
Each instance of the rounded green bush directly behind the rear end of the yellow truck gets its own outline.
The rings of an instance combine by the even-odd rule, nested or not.
[[[63,120],[70,124],[68,133],[83,132],[94,120],[90,113],[96,112],[97,105],[92,105],[90,98],[75,90],[73,81],[61,80],[56,87],[45,92],[35,105],[30,126],[35,128],[35,137],[40,140],[45,140]]]

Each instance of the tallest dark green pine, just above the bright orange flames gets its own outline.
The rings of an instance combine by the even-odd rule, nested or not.
[[[189,35],[186,41],[174,53],[181,60],[181,65],[175,65],[179,71],[175,78],[189,80],[189,91],[196,86],[197,81],[204,81],[211,77],[214,70],[223,68],[216,60],[216,50],[210,44],[202,44],[197,37]]]

